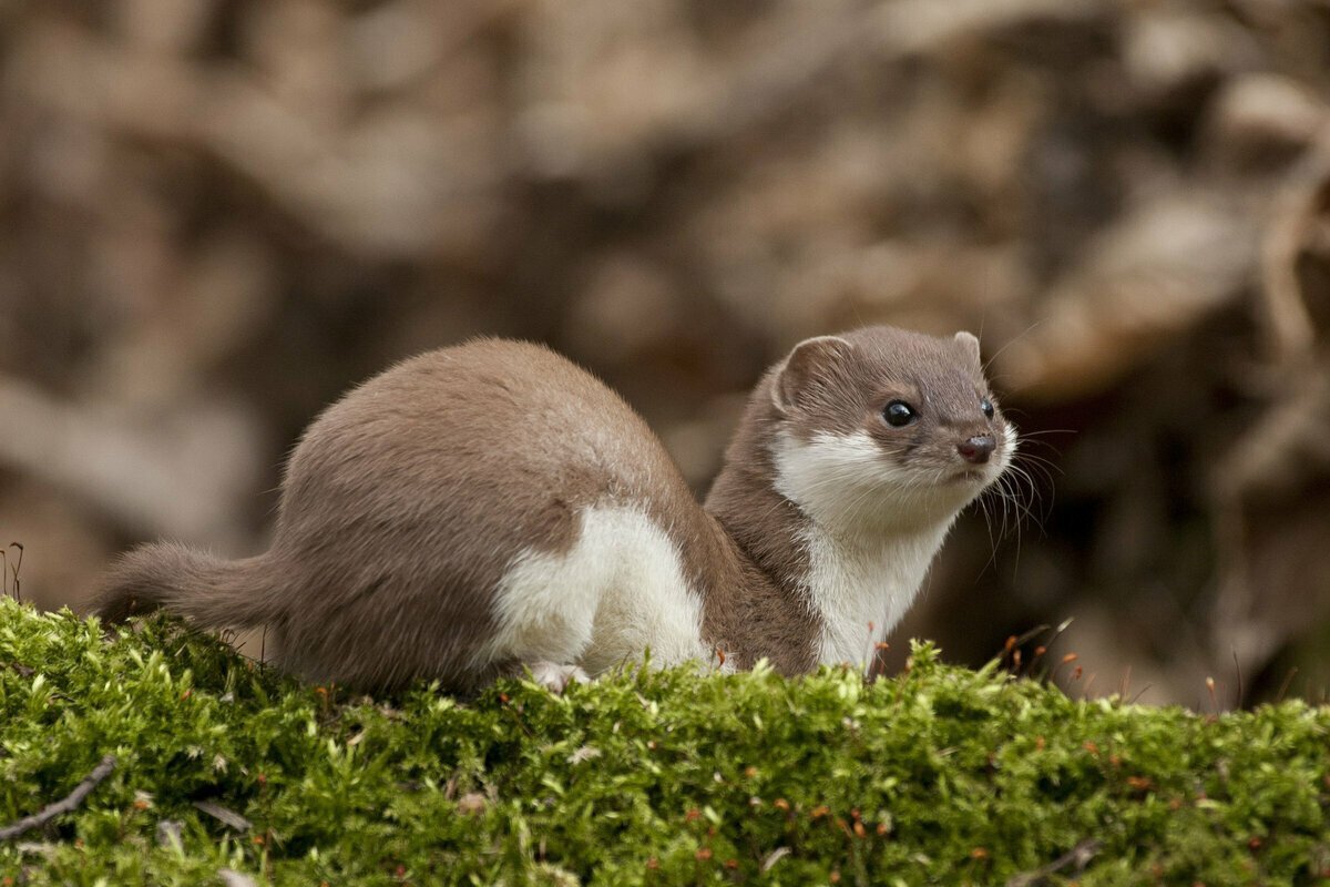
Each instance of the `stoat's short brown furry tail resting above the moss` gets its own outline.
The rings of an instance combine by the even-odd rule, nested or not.
[[[122,556],[93,600],[104,622],[166,609],[209,628],[249,628],[281,614],[267,555],[222,560],[178,543]]]

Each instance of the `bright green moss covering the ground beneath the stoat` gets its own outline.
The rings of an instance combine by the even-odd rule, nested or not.
[[[1330,870],[1330,709],[1075,702],[927,645],[872,685],[676,669],[384,703],[301,688],[166,621],[108,641],[0,602],[0,824],[108,753],[118,766],[78,810],[0,844],[4,876],[991,884],[1089,839],[1088,868],[1052,883]]]

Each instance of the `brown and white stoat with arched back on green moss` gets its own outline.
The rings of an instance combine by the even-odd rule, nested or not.
[[[281,668],[371,692],[523,668],[561,686],[648,648],[657,665],[862,664],[1015,449],[975,336],[864,327],[766,372],[700,505],[601,382],[480,339],[329,407],[286,467],[267,552],[140,547],[97,610],[263,624]]]

